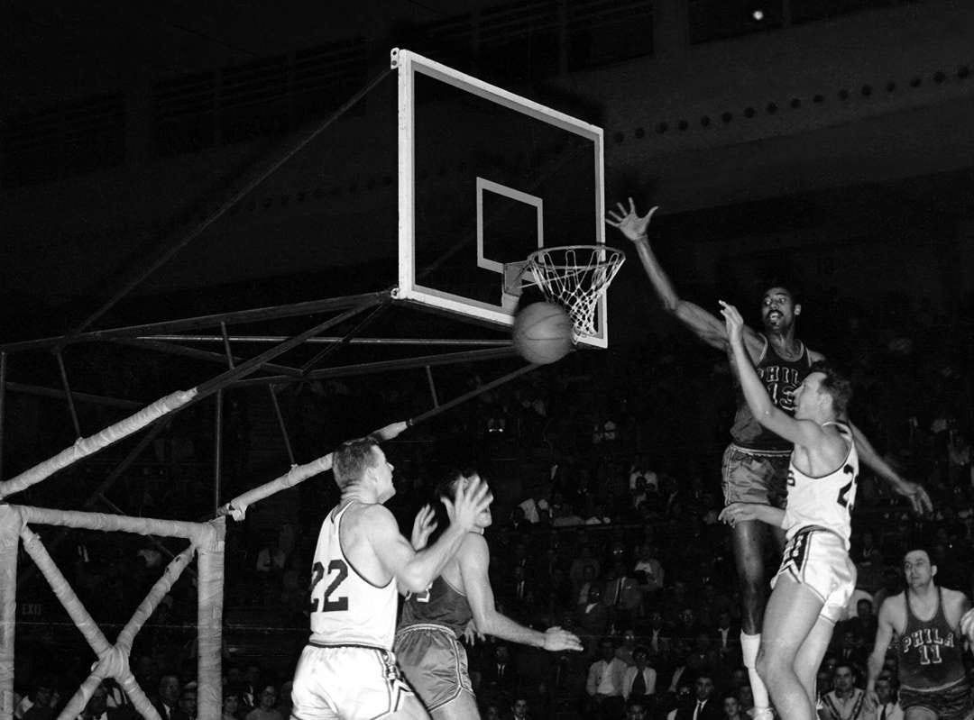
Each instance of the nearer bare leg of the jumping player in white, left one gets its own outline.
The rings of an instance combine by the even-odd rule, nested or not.
[[[814,702],[805,691],[795,662],[821,609],[821,597],[787,573],[778,577],[765,609],[758,673],[768,685],[778,714],[788,720],[815,717]]]

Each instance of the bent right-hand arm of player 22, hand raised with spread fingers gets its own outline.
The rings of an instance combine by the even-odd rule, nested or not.
[[[444,500],[450,516],[449,527],[435,543],[419,552],[399,534],[393,514],[383,506],[370,507],[366,511],[368,517],[363,520],[376,557],[395,578],[399,589],[421,593],[460,549],[477,516],[490,506],[492,500],[487,485],[480,481],[467,488],[458,487],[453,503]]]

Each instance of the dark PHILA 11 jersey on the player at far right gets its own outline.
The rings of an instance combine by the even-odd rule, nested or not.
[[[937,612],[928,621],[920,620],[910,607],[910,594],[904,594],[907,627],[897,651],[900,686],[914,690],[934,690],[964,679],[962,639],[947,624],[944,595],[937,589]]]

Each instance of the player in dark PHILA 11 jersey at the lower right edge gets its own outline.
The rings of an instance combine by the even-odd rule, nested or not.
[[[876,679],[886,648],[895,636],[899,638],[900,706],[906,720],[964,720],[974,713],[960,627],[970,602],[963,593],[937,587],[933,582],[937,566],[931,564],[925,550],[908,552],[903,558],[903,572],[906,591],[887,597],[880,605],[866,693],[875,706]]]

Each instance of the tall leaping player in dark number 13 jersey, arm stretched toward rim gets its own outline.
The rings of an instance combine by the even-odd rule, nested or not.
[[[635,203],[629,198],[628,209],[619,202],[617,209],[609,212],[606,223],[618,228],[636,246],[643,269],[663,307],[700,340],[731,354],[724,322],[702,307],[680,298],[659,265],[646,233],[655,212],[656,207],[640,217]],[[795,324],[801,312],[802,306],[789,288],[768,287],[761,307],[763,332],[756,333],[746,326],[743,329],[748,365],[757,369],[772,404],[786,413],[791,413],[794,408],[791,393],[805,379],[811,364],[823,359],[820,353],[809,349],[795,337]],[[919,515],[931,510],[930,498],[923,487],[901,478],[853,425],[849,424],[849,427],[855,436],[862,462],[889,483],[894,491],[909,498]],[[731,427],[731,445],[724,453],[723,461],[725,504],[751,502],[783,507],[790,454],[791,443],[764,428],[738,393],[737,414]],[[780,528],[772,527],[771,534],[780,548],[783,542]],[[767,537],[766,528],[759,522],[736,522],[731,529],[742,603],[741,651],[754,692],[757,720],[767,718],[769,713],[768,692],[755,669],[766,598],[764,557]]]

